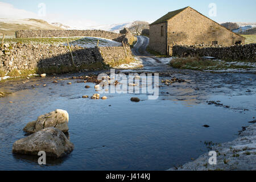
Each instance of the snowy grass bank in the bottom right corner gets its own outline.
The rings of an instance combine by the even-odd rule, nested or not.
[[[212,151],[217,154],[217,164],[209,164],[209,153],[201,155],[193,162],[168,171],[255,171],[256,170],[256,124],[246,128],[232,142],[214,146]]]

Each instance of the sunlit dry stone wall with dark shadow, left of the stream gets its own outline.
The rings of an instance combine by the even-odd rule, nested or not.
[[[117,59],[125,59],[123,47],[94,47],[82,48],[71,46],[76,66],[92,63],[106,63]],[[131,49],[126,47],[127,54],[131,55]],[[0,47],[0,69],[10,72],[14,68],[18,70],[71,66],[71,54],[66,46],[48,46],[46,44],[5,44]]]

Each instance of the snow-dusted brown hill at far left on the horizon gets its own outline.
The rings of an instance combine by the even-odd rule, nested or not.
[[[49,24],[40,19],[7,19],[0,18],[0,33],[14,36],[17,30],[63,30],[64,28]]]

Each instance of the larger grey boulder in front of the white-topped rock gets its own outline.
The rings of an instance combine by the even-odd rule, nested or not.
[[[49,127],[17,140],[13,144],[13,153],[38,155],[39,151],[45,151],[46,156],[61,158],[71,153],[73,148],[73,143],[68,140],[62,131]]]

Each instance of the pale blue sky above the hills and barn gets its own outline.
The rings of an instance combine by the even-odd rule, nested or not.
[[[91,24],[133,22],[134,20],[154,21],[169,11],[191,6],[216,22],[256,22],[255,0],[0,0],[38,14],[39,3],[46,4],[47,18],[57,20],[81,20]],[[215,3],[217,16],[209,16],[209,4]],[[1,18],[1,17],[0,17]]]

